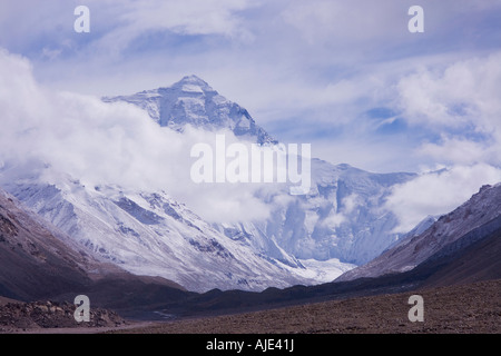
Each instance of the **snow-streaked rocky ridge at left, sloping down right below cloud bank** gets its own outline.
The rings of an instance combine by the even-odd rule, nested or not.
[[[161,276],[195,291],[314,283],[294,274],[301,266],[227,238],[165,192],[89,188],[75,180],[8,189],[88,250],[137,275]]]

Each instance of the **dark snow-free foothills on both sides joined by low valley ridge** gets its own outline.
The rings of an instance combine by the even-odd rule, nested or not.
[[[65,233],[40,219],[9,194],[0,194],[1,295],[20,300],[52,298],[72,300],[88,295],[97,306],[120,310],[136,318],[214,315],[277,306],[323,301],[355,296],[419,290],[501,278],[501,214],[487,201],[498,199],[501,184],[483,187],[458,209],[441,217],[429,229],[409,236],[384,256],[395,256],[420,241],[420,256],[413,268],[381,271],[382,257],[346,273],[334,281],[314,286],[266,288],[262,293],[213,289],[188,291],[158,277],[137,276],[115,264],[95,258]],[[464,228],[463,214],[470,211],[479,224]],[[488,211],[488,212],[485,212]],[[484,220],[482,218],[487,217]],[[493,217],[493,218],[491,218]],[[448,228],[445,229],[446,226]],[[444,229],[451,235],[440,246]],[[451,236],[453,236],[451,238]],[[428,247],[426,244],[433,246]],[[402,246],[404,248],[402,248]],[[405,248],[405,246],[407,246]],[[406,257],[406,254],[402,256]],[[406,259],[409,261],[409,259]]]

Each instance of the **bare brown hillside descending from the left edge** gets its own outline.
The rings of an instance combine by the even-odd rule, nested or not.
[[[23,300],[84,288],[106,269],[2,190],[0,266],[0,294]]]

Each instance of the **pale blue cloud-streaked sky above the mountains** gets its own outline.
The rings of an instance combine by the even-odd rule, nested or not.
[[[409,31],[415,4],[424,32]],[[78,6],[89,32],[75,31]],[[197,75],[314,157],[448,168],[389,202],[420,212],[421,199],[464,191],[449,208],[501,180],[500,0],[3,0],[0,48],[43,91],[99,98]],[[443,189],[415,192],[430,185]]]

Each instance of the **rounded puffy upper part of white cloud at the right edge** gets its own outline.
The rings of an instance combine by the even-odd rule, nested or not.
[[[423,68],[400,80],[400,105],[415,123],[500,129],[500,61],[501,52],[495,52],[453,62],[443,70]]]

